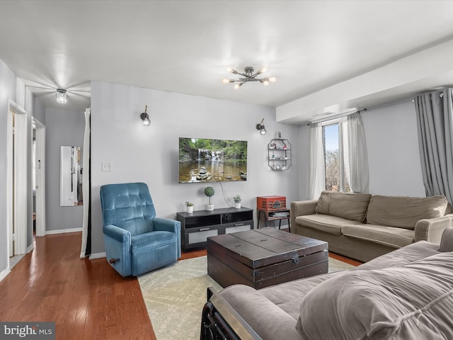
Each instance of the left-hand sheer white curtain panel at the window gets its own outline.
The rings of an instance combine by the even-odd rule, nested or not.
[[[324,167],[323,127],[321,123],[311,124],[309,197],[312,200],[317,200],[321,195],[321,191],[326,188]]]

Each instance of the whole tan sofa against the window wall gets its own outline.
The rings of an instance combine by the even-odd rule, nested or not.
[[[445,196],[425,198],[323,191],[291,203],[291,232],[328,242],[328,249],[366,262],[420,240],[439,244],[453,226]]]

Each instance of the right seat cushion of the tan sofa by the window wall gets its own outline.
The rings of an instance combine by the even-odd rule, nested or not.
[[[384,225],[343,225],[341,233],[345,236],[365,239],[395,248],[413,243],[415,237],[415,232],[411,229],[386,227]]]

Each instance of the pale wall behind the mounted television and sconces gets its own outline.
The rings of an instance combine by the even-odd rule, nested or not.
[[[228,91],[228,89],[226,89]],[[139,114],[148,105],[151,125],[144,127]],[[265,118],[268,134],[256,124]],[[282,132],[297,152],[297,127],[275,123],[275,108],[132,86],[91,83],[91,188],[92,252],[104,251],[99,188],[106,183],[143,181],[148,184],[157,215],[176,218],[185,200],[202,210],[207,183],[178,183],[178,137],[248,141],[248,179],[223,183],[226,195],[243,197],[242,205],[256,208],[256,196],[297,198],[297,166],[272,171],[267,162],[268,142]],[[113,171],[101,171],[112,162]],[[212,197],[215,208],[227,205],[219,183]]]

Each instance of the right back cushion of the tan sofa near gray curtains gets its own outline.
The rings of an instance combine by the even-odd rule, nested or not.
[[[447,209],[447,198],[445,196],[374,195],[369,200],[367,223],[414,229],[419,220],[445,215],[445,209]]]

